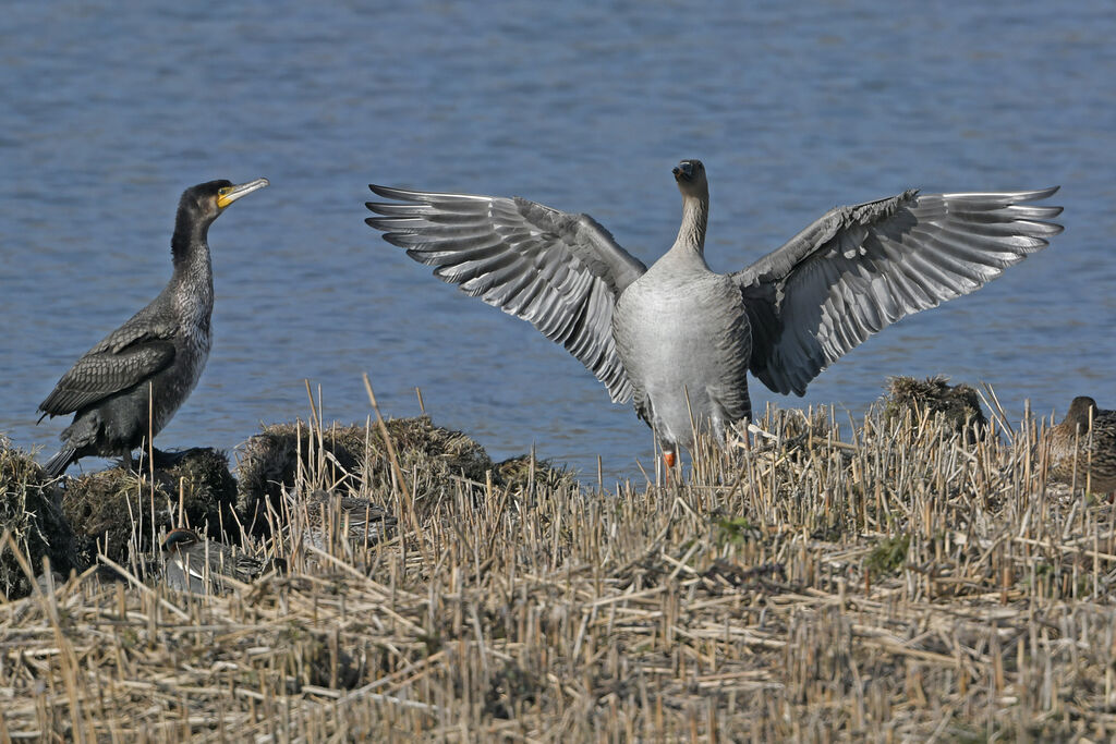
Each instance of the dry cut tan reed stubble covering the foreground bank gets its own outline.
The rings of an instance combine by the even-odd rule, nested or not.
[[[760,425],[605,490],[388,448],[344,479],[398,519],[374,544],[246,534],[288,571],[213,596],[48,579],[0,603],[0,740],[1113,736],[1116,525],[1041,425]],[[340,482],[309,454],[291,493]]]

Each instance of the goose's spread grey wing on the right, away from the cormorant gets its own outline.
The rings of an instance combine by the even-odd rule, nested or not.
[[[732,274],[752,325],[752,374],[802,395],[872,334],[995,279],[1061,232],[1049,222],[1060,206],[1029,204],[1056,191],[907,191],[831,210]]]

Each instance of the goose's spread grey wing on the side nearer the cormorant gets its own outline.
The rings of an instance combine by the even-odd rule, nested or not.
[[[586,214],[526,199],[369,185],[394,203],[368,202],[365,220],[434,274],[561,344],[608,388],[632,397],[613,342],[613,307],[646,267]]]

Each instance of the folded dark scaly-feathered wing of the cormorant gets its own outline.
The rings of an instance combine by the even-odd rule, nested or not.
[[[44,416],[71,414],[143,383],[174,360],[172,334],[172,327],[125,323],[62,375],[39,410]]]

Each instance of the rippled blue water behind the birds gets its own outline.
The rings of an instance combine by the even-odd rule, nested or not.
[[[261,422],[385,414],[637,476],[629,406],[529,325],[431,278],[363,222],[368,182],[591,213],[651,262],[670,175],[708,167],[706,253],[741,268],[835,204],[1062,184],[1065,234],[978,293],[885,330],[782,406],[856,413],[888,375],[993,384],[1013,414],[1116,407],[1116,15],[982,3],[8,3],[0,19],[0,432],[170,276],[183,189],[271,187],[213,226],[215,341],[164,447]],[[607,6],[607,7],[606,7]],[[49,455],[44,452],[42,456]]]

